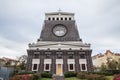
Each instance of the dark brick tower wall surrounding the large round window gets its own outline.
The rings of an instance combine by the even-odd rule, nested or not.
[[[53,28],[57,24],[62,24],[67,29],[67,34],[63,37],[57,37],[53,33]],[[42,41],[79,41],[79,34],[75,21],[48,21],[45,20],[40,39]]]

